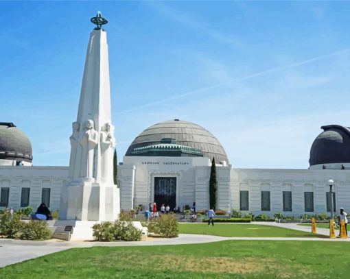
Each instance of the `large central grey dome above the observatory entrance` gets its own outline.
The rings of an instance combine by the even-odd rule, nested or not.
[[[210,160],[214,157],[217,163],[222,161],[229,163],[224,147],[211,132],[200,125],[178,119],[157,123],[141,132],[132,141],[125,155],[133,156],[132,152],[137,147],[160,144],[163,138],[173,138],[178,145],[200,149],[203,156]]]

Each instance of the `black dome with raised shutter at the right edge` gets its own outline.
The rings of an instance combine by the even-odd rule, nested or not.
[[[340,125],[321,128],[324,132],[312,143],[310,166],[350,162],[350,129]]]

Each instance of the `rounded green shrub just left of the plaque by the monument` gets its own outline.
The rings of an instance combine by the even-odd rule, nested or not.
[[[21,223],[20,239],[46,240],[51,237],[51,231],[47,228],[47,222],[31,220]]]

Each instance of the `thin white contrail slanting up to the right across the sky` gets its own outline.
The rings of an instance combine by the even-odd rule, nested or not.
[[[253,73],[252,75],[246,75],[245,77],[239,77],[237,79],[233,79],[233,82],[242,82],[244,80],[250,80],[253,77],[259,77],[260,75],[266,75],[268,73],[274,73],[274,72],[277,72],[277,71],[283,71],[283,70],[286,70],[286,69],[291,69],[291,68],[294,68],[296,66],[302,66],[302,65],[305,65],[305,64],[310,64],[310,63],[318,61],[318,60],[329,58],[331,56],[336,56],[336,55],[338,55],[338,54],[340,54],[342,52],[346,52],[346,51],[349,51],[349,50],[350,50],[350,48],[341,49],[340,51],[334,51],[334,52],[331,52],[331,53],[327,53],[327,54],[325,54],[323,56],[316,56],[314,58],[310,58],[310,59],[303,60],[303,61],[300,61],[300,62],[295,62],[295,63],[288,64],[288,65],[285,65],[285,66],[275,67],[275,68],[272,68],[272,69],[261,71],[259,73]],[[139,110],[139,108],[145,108],[145,107],[148,107],[148,106],[153,106],[153,105],[157,105],[157,104],[163,104],[163,103],[166,103],[167,101],[172,101],[174,99],[180,99],[182,97],[186,97],[186,96],[189,96],[189,95],[198,94],[200,92],[203,92],[203,91],[206,91],[206,90],[211,90],[211,89],[214,89],[214,88],[218,88],[220,86],[224,86],[224,84],[223,83],[213,84],[211,86],[206,86],[206,87],[203,87],[203,88],[199,88],[197,90],[192,90],[192,91],[189,91],[187,93],[176,95],[174,97],[170,97],[170,98],[167,98],[167,99],[162,99],[162,100],[159,100],[159,101],[153,101],[153,102],[150,102],[148,104],[143,104],[141,106],[136,106],[134,108],[130,108],[130,110],[124,110],[124,111],[119,112],[119,113],[117,113],[115,115],[117,116],[117,115],[121,115],[121,114],[127,114],[129,112],[133,112],[135,110]]]

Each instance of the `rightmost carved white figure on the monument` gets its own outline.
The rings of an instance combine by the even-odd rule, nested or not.
[[[113,178],[113,151],[115,149],[114,126],[106,123],[101,131],[102,179]]]

